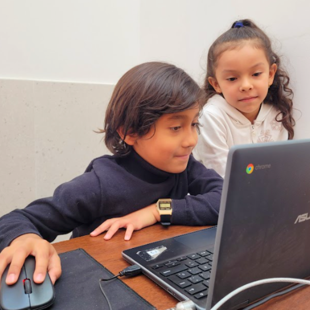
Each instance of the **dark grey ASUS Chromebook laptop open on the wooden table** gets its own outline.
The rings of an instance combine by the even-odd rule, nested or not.
[[[179,300],[209,310],[231,291],[272,277],[310,276],[310,139],[234,146],[217,227],[124,250],[122,256]],[[255,286],[237,310],[289,283]]]

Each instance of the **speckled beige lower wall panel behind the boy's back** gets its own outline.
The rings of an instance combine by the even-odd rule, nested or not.
[[[0,216],[51,196],[109,153],[93,130],[113,87],[0,79]]]

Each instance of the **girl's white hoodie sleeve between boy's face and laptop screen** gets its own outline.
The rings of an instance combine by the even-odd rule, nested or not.
[[[224,177],[229,151],[224,120],[220,116],[204,110],[200,122],[202,126],[198,143],[193,149],[193,155],[207,168],[214,169]]]

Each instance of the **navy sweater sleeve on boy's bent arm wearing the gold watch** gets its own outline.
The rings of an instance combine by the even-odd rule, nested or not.
[[[193,156],[188,162],[188,193],[184,199],[173,199],[172,224],[215,225],[219,216],[223,179],[207,169]]]

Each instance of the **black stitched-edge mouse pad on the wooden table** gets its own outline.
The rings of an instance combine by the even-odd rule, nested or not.
[[[113,274],[82,249],[59,255],[62,274],[55,283],[55,301],[52,310],[109,310],[100,287],[100,278]],[[101,281],[112,310],[156,310],[150,303],[118,278]]]

